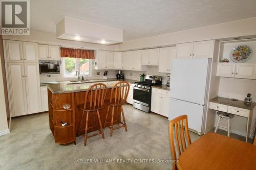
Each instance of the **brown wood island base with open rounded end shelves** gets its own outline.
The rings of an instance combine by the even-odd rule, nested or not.
[[[106,92],[105,100],[110,99],[111,89],[108,89]],[[61,93],[55,94],[48,89],[48,106],[49,106],[49,127],[54,136],[55,142],[59,144],[70,144],[76,143],[76,136],[78,136],[79,126],[81,121],[82,111],[77,108],[77,105],[84,103],[84,98],[86,96],[86,91],[81,92],[72,92],[72,93]],[[90,95],[89,95],[90,100]],[[71,105],[69,109],[63,109],[63,104],[68,103]],[[104,103],[104,109],[100,110],[100,120],[101,124],[104,125],[106,111],[108,110],[108,105]],[[117,116],[117,114],[119,116]],[[120,121],[120,108],[115,110],[114,124],[117,124],[117,118]],[[82,133],[84,133],[86,121],[82,123]],[[97,114],[95,114],[96,125],[99,127]],[[61,122],[69,123],[68,126],[62,127]],[[111,114],[108,115],[106,121],[106,127],[109,127],[111,124]],[[89,122],[88,122],[88,132],[94,131],[93,123],[93,112],[89,113]]]

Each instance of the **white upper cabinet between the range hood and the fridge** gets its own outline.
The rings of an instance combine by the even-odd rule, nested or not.
[[[160,48],[158,72],[170,73],[173,59],[176,59],[176,46]]]

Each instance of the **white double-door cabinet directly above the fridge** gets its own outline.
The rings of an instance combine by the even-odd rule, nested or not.
[[[177,44],[177,58],[212,58],[214,40]]]

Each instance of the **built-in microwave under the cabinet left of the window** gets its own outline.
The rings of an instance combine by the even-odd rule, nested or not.
[[[58,60],[39,60],[40,75],[60,74]]]

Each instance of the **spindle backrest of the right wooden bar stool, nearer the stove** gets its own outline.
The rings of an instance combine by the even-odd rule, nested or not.
[[[116,83],[111,89],[110,103],[118,105],[126,102],[129,90],[130,84],[128,82]]]

